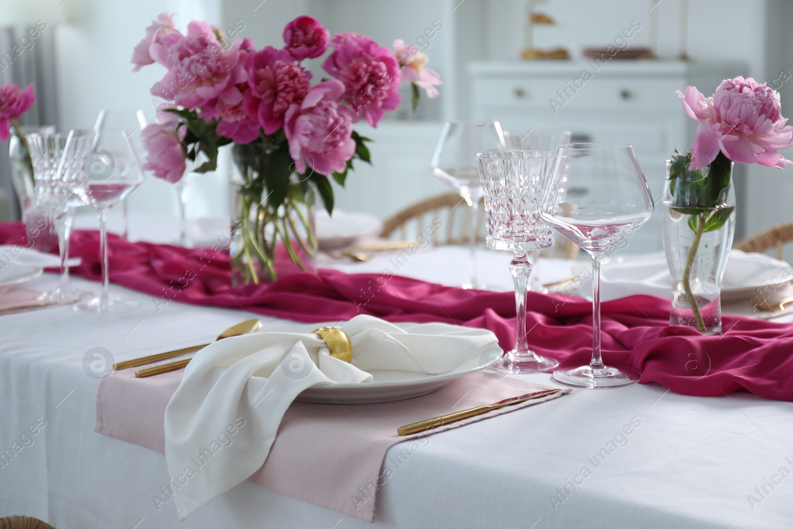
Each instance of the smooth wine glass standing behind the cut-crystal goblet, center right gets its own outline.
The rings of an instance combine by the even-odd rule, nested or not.
[[[462,286],[464,289],[487,288],[477,282],[477,217],[482,186],[473,157],[478,152],[504,148],[504,132],[498,121],[448,122],[432,156],[432,174],[453,186],[470,207],[471,278]]]

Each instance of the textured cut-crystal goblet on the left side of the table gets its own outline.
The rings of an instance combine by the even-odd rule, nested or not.
[[[72,131],[66,134],[25,135],[33,161],[36,210],[54,224],[60,253],[60,282],[56,289],[37,299],[52,303],[71,303],[84,296],[69,284],[69,239],[75,207],[82,205],[72,192],[71,179],[82,167],[82,155],[94,140],[93,132]],[[32,214],[33,212],[28,212]]]

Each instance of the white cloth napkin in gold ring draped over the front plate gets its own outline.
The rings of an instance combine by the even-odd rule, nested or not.
[[[320,383],[372,381],[370,370],[443,374],[498,347],[485,329],[355,316],[335,324],[352,363],[310,334],[318,324],[219,340],[199,351],[165,411],[165,457],[179,519],[259,470],[289,404]],[[211,454],[201,458],[205,450]],[[204,465],[204,460],[207,460]]]

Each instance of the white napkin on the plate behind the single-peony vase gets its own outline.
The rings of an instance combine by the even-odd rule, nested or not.
[[[581,275],[578,293],[592,299],[592,273]],[[722,301],[725,289],[772,285],[793,278],[793,268],[784,262],[759,253],[730,250],[730,259],[722,279]],[[600,268],[600,301],[634,294],[651,294],[672,299],[672,277],[664,252],[640,257],[630,256],[622,263],[606,263]],[[743,297],[745,300],[745,297]]]

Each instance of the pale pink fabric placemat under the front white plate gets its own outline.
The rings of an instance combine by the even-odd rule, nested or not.
[[[183,373],[184,370],[178,370],[135,378],[134,370],[114,372],[99,385],[95,430],[164,454],[165,407]],[[270,455],[248,481],[357,519],[373,521],[377,489],[387,478],[382,466],[390,447],[411,443],[405,452],[409,457],[426,446],[427,435],[515,412],[563,393],[499,408],[423,434],[400,437],[398,427],[542,389],[548,387],[519,378],[496,379],[473,374],[455,379],[435,393],[408,401],[343,405],[293,402],[281,422]],[[233,442],[233,436],[231,439]],[[178,493],[178,484],[171,486]],[[161,503],[170,503],[170,497],[161,495]]]

